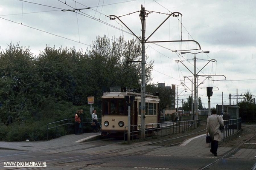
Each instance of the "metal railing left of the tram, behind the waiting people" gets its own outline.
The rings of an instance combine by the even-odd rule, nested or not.
[[[101,119],[98,119],[101,121]],[[101,123],[101,122],[99,122]],[[92,131],[91,128],[92,119],[82,119],[82,127],[83,132],[90,132]],[[69,125],[69,126],[67,126]],[[58,131],[60,127],[64,126],[64,134],[67,132],[70,134],[75,133],[75,121],[74,119],[64,119],[52,123],[47,124],[47,140],[49,139],[49,130],[55,128],[55,138],[61,136],[60,132]]]

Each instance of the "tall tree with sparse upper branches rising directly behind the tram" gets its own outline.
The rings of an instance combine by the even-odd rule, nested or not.
[[[103,91],[119,86],[140,89],[141,44],[138,40],[125,41],[123,37],[97,37],[87,49],[88,93],[101,105]],[[147,57],[148,58],[148,57]],[[151,80],[153,62],[147,61],[146,81]]]

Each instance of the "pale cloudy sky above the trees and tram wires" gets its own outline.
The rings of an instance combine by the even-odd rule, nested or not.
[[[154,60],[151,83],[178,85],[179,99],[187,101],[196,70],[205,108],[206,87],[213,87],[211,108],[222,102],[236,105],[229,94],[256,95],[254,0],[0,0],[0,50],[19,44],[37,56],[46,46],[85,51],[98,36],[136,39],[132,31],[140,38],[141,6],[148,13],[146,39],[154,33],[145,46],[148,59]],[[110,20],[111,15],[122,22]],[[179,42],[150,43],[174,40]]]

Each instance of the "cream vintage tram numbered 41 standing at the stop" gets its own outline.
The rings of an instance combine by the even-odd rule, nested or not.
[[[124,136],[128,130],[128,103],[125,96],[134,96],[130,104],[131,132],[140,130],[141,94],[134,92],[107,92],[102,96],[102,136]],[[158,96],[145,95],[146,128],[155,128],[160,122]],[[154,125],[152,125],[154,124]]]

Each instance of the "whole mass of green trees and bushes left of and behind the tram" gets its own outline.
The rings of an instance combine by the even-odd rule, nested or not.
[[[47,46],[33,56],[29,48],[10,43],[0,51],[0,139],[44,140],[47,123],[74,119],[78,109],[91,119],[88,96],[94,96],[100,118],[102,92],[111,86],[140,89],[141,63],[133,62],[141,60],[140,50],[138,40],[106,36],[96,37],[85,53]],[[153,62],[147,61],[146,82]],[[58,135],[66,133],[58,128]],[[54,130],[49,134],[56,137]]]

